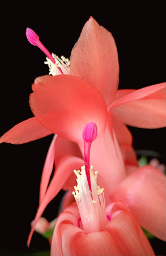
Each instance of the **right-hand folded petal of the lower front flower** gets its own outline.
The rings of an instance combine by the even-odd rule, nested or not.
[[[113,243],[120,250],[120,255],[155,255],[136,218],[127,210],[125,204],[116,202],[109,208],[111,220],[104,230],[113,237]]]

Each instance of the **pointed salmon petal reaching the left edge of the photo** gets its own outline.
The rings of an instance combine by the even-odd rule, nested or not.
[[[40,125],[35,117],[29,118],[15,125],[3,134],[0,143],[23,144],[52,134],[51,131]]]

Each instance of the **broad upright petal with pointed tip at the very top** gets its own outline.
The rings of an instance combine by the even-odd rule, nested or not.
[[[112,102],[118,88],[119,64],[112,34],[90,18],[71,52],[70,74],[96,88],[105,102]]]

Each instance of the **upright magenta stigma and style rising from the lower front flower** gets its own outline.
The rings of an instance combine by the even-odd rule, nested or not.
[[[90,148],[91,148],[92,141],[94,141],[96,137],[97,137],[96,123],[87,123],[83,129],[84,162],[85,162],[88,185],[91,193],[92,193],[92,188],[91,188],[91,177],[90,177]]]

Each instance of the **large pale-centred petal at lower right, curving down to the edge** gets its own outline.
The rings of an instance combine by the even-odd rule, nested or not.
[[[138,168],[126,177],[111,199],[122,200],[143,228],[165,240],[165,176],[151,166]]]

